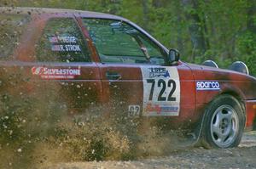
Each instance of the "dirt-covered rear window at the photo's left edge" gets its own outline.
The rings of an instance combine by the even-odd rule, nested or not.
[[[29,15],[0,14],[0,60],[13,57],[30,20]]]

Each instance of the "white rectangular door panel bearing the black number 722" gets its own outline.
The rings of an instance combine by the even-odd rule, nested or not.
[[[180,82],[176,67],[142,66],[143,115],[179,115]]]

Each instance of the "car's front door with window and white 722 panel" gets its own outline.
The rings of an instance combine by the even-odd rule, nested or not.
[[[177,66],[135,27],[119,20],[83,19],[101,60],[103,93],[123,116],[178,116]]]

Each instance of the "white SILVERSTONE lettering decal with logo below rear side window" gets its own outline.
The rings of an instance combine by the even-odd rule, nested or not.
[[[74,79],[81,75],[80,69],[56,69],[47,67],[32,67],[32,75],[42,79]]]

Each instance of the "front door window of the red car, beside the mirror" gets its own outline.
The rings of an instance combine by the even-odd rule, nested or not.
[[[164,65],[162,49],[119,20],[83,19],[103,63]]]

